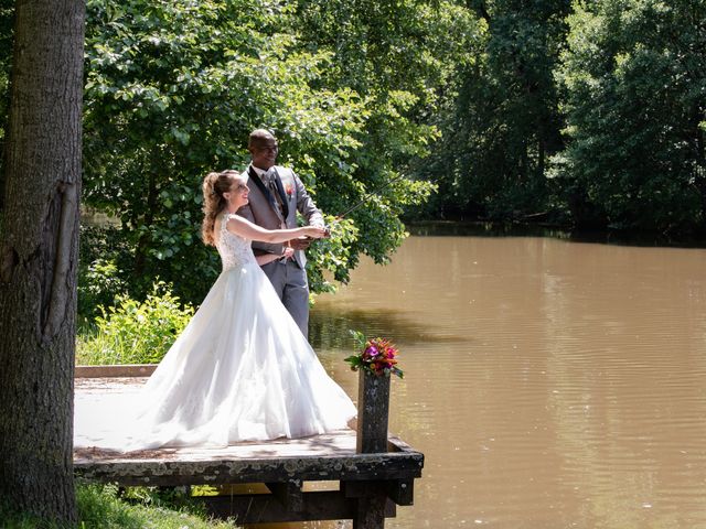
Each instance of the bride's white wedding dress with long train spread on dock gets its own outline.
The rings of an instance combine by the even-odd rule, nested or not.
[[[225,446],[340,430],[355,415],[226,219],[223,271],[201,307],[139,392],[76,399],[75,446]]]

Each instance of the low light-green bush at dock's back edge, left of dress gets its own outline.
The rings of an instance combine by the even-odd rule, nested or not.
[[[78,364],[157,364],[194,314],[161,281],[142,303],[122,294],[100,311],[95,333],[78,337]]]

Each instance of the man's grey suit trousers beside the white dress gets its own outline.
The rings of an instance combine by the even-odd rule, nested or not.
[[[282,300],[282,304],[291,314],[295,323],[301,330],[306,338],[309,337],[309,282],[307,271],[297,261],[287,259],[285,261],[268,262],[263,267],[267,276]]]

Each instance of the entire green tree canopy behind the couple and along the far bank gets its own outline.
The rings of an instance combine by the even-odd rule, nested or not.
[[[1,6],[11,42],[12,3]],[[703,2],[87,9],[83,202],[120,227],[84,264],[103,257],[137,293],[159,274],[186,300],[203,295],[218,263],[199,241],[201,180],[244,169],[258,127],[330,220],[364,202],[311,249],[314,291],[345,281],[361,255],[385,262],[403,219],[420,216],[704,231]],[[6,118],[0,95],[0,141]]]

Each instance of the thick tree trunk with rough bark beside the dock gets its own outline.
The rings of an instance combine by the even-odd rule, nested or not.
[[[75,521],[85,3],[17,2],[0,235],[0,497]]]

